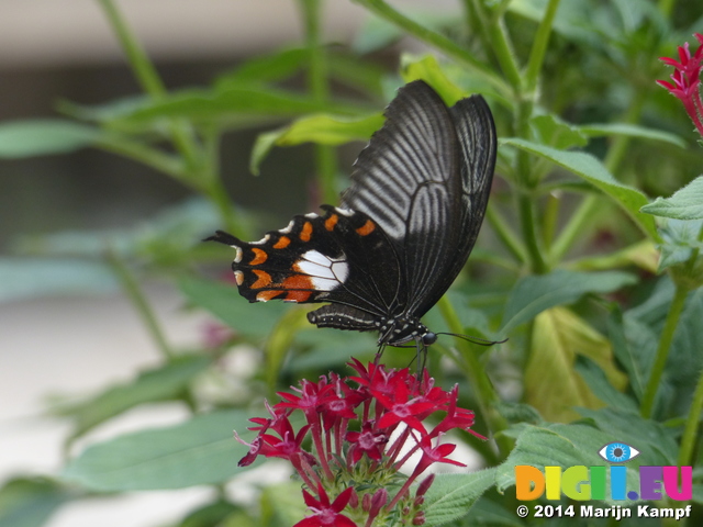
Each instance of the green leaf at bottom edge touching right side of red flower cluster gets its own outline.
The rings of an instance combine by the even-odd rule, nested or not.
[[[427,525],[440,525],[465,516],[476,501],[495,484],[495,469],[470,474],[437,475],[425,494]]]

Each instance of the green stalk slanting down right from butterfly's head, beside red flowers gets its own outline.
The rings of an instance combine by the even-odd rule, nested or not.
[[[437,305],[439,306],[442,316],[449,326],[449,330],[451,333],[461,335],[464,333],[464,325],[459,321],[454,306],[446,298],[446,295],[439,299]],[[471,388],[479,406],[478,410],[481,413],[483,419],[486,419],[491,434],[493,436],[496,436],[500,431],[507,428],[507,423],[505,422],[503,416],[495,410],[495,403],[500,401],[500,396],[498,395],[498,392],[495,392],[493,383],[486,373],[486,368],[483,368],[483,365],[481,365],[481,362],[479,361],[469,343],[462,340],[461,343],[458,343],[458,346],[461,349],[461,357],[467,362],[465,373],[471,382]],[[507,453],[512,449],[512,441],[507,437],[500,435],[495,438],[495,442],[498,444],[501,453],[507,456]]]

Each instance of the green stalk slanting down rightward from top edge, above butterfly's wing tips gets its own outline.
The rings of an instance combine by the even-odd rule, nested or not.
[[[400,12],[395,11],[383,0],[354,0],[356,3],[364,5],[369,11],[376,13],[381,19],[391,22],[409,35],[428,44],[429,46],[438,49],[448,57],[454,58],[468,66],[477,76],[493,86],[498,91],[504,96],[510,96],[513,90],[502,79],[500,79],[491,68],[478,60],[473,55],[468,53],[464,47],[455,44],[446,36],[436,33],[417,22],[404,16]]]

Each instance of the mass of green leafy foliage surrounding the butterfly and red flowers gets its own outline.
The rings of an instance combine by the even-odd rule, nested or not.
[[[481,92],[501,136],[479,246],[426,323],[510,337],[488,349],[443,337],[431,350],[432,374],[462,386],[462,406],[477,410],[476,429],[491,442],[467,441],[487,470],[437,478],[426,525],[540,524],[514,514],[514,464],[603,464],[598,451],[615,440],[643,452],[626,466],[631,489],[640,464],[694,464],[688,522],[700,523],[703,158],[679,101],[655,80],[669,74],[658,58],[674,56],[703,27],[703,4],[464,0],[456,13],[437,15],[356,1],[369,16],[348,47],[321,43],[324,3],[299,0],[302,45],[254,57],[210,85],[167,90],[112,1],[101,0],[144,93],[96,106],[63,101],[62,119],[0,123],[0,157],[93,147],[197,194],[131,229],[20,236],[15,255],[0,260],[4,302],[121,288],[163,354],[163,365],[132,381],[53,408],[72,425],[68,442],[142,404],[178,401],[192,413],[180,425],[68,456],[52,479],[5,482],[1,527],[43,525],[63,504],[94,495],[202,484],[217,497],[177,525],[287,526],[302,518],[299,483],[260,489],[257,503],[226,497],[223,485],[237,481],[246,451],[231,430],[264,415],[264,396],[302,375],[341,371],[352,355],[372,357],[375,343],[311,330],[306,307],[249,305],[231,282],[213,278],[233,255],[203,237],[215,228],[245,238],[261,232],[260,211],[234,208],[224,191],[220,138],[267,128],[250,156],[252,172],[263,178],[274,148],[314,143],[309,183],[332,200],[350,170],[337,168],[334,148],[368,139],[394,90],[414,79],[447,103]],[[406,36],[428,51],[403,53]],[[377,64],[376,54],[398,51],[397,68]],[[304,89],[295,88],[301,78]],[[202,349],[170,345],[142,287],[154,277],[174,283],[188,309],[212,316]],[[228,366],[252,349],[256,371]],[[411,358],[393,349],[383,356],[399,367]],[[612,504],[620,503],[600,503]]]

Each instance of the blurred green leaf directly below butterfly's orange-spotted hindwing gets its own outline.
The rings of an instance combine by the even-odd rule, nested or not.
[[[236,287],[223,282],[182,277],[178,280],[178,288],[190,302],[249,338],[267,336],[287,311],[281,302],[250,304],[239,295]]]

